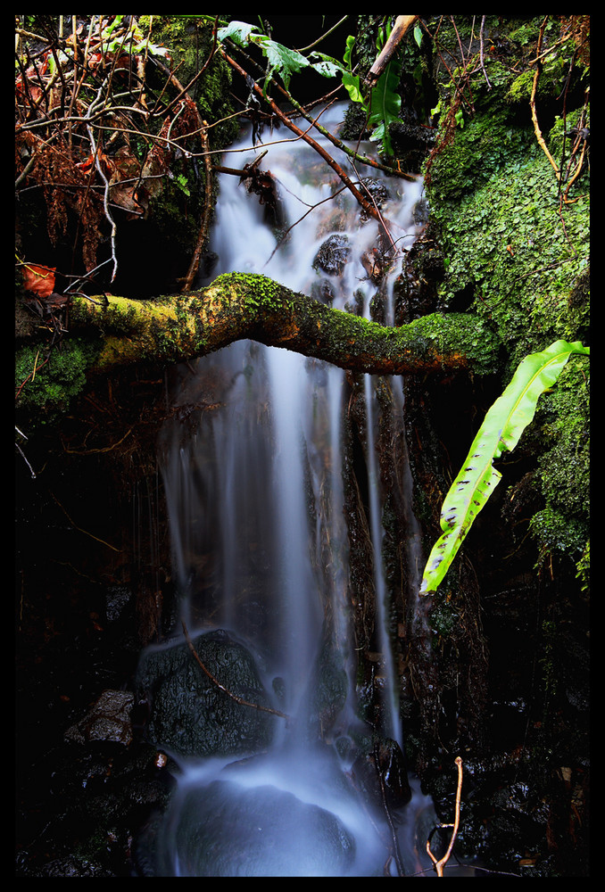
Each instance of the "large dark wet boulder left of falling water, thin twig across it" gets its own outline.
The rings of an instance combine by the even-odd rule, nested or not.
[[[199,635],[193,645],[203,665],[233,695],[270,706],[252,655],[227,632]],[[274,723],[284,721],[220,690],[185,641],[145,652],[137,671],[137,693],[139,701],[145,698],[150,706],[146,738],[180,756],[258,752],[269,745]]]

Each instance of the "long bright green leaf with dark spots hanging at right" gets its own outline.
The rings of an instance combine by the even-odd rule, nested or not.
[[[493,459],[515,448],[535,415],[540,395],[555,383],[571,353],[589,354],[590,350],[579,341],[557,341],[540,353],[526,356],[487,412],[460,474],[443,501],[443,535],[428,557],[420,594],[437,590],[471,524],[500,482],[501,473],[493,467]]]

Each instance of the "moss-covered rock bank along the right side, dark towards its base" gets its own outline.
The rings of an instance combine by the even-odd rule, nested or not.
[[[438,132],[425,168],[427,244],[443,258],[430,282],[434,308],[482,319],[503,345],[500,370],[470,389],[472,432],[526,354],[559,339],[590,343],[583,20],[433,21],[442,53],[435,55]],[[450,56],[443,64],[444,46],[457,70]],[[536,82],[532,60],[543,53]],[[438,693],[431,703],[428,683],[420,695],[414,690],[420,733],[407,707],[412,748],[427,754],[429,767],[419,758],[420,770],[442,820],[451,820],[452,795],[451,778],[447,795],[440,788],[443,752],[467,752],[472,794],[460,851],[518,875],[586,870],[589,383],[587,358],[574,357],[541,396],[514,455],[502,461],[501,487],[473,524],[428,615],[433,674],[427,681]],[[464,458],[457,450],[465,408],[454,413],[435,389],[422,397],[418,408],[413,397],[406,403],[415,413],[412,430],[437,454],[440,441],[447,450],[441,464],[412,457],[424,486],[417,504],[430,528],[430,508],[437,526],[448,472],[455,475]],[[417,659],[417,674],[422,666]],[[431,753],[426,741],[433,727]],[[555,764],[565,767],[554,770]]]

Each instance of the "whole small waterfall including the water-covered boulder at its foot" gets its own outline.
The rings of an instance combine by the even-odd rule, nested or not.
[[[324,126],[336,127],[343,112],[343,106],[327,111]],[[278,243],[258,197],[247,194],[237,178],[223,177],[211,241],[217,262],[202,284],[222,272],[262,273],[337,309],[369,316],[377,285],[369,277],[367,258],[377,245],[377,223],[360,220],[359,206],[336,177],[328,176],[311,148],[301,141],[280,141],[280,136],[281,131],[265,135],[266,145],[253,150],[246,134],[234,147],[240,154],[230,155],[228,163],[241,158],[238,166],[243,167],[269,149],[262,166],[278,185],[282,232],[292,228]],[[372,150],[369,144],[363,148]],[[361,176],[381,182],[376,171],[361,169]],[[417,232],[412,210],[422,185],[392,180],[388,188],[392,198],[382,211],[399,227],[399,247],[409,247]],[[327,244],[333,251],[324,256]],[[401,256],[383,289],[386,324],[393,320],[392,282]],[[364,377],[374,646],[385,699],[378,731],[402,744],[382,562],[375,443],[380,409],[375,378]],[[401,379],[394,378],[390,386],[394,418],[402,425]],[[247,687],[232,693],[289,718],[236,704],[238,733],[220,740],[214,751],[192,743],[183,723],[170,736],[167,723],[156,719],[154,742],[174,756],[180,773],[153,844],[152,875],[382,876],[393,854],[380,797],[372,801],[367,795],[368,789],[378,789],[377,781],[364,783],[355,761],[361,741],[371,740],[371,729],[358,715],[356,697],[344,509],[345,394],[341,369],[253,342],[235,343],[199,360],[195,368],[178,369],[173,418],[162,431],[160,450],[182,616],[195,648],[217,676],[233,648],[245,648],[258,684],[252,690],[248,680]],[[410,483],[409,468],[402,475]],[[413,524],[406,548],[410,566],[419,566],[419,533]],[[206,644],[223,648],[222,657],[212,657]],[[148,662],[183,649],[177,622],[174,637],[149,648],[145,658]],[[201,677],[191,654],[185,658],[188,677]],[[201,708],[203,697],[195,700],[190,691],[187,696],[170,689],[181,709]],[[226,699],[222,692],[220,697]],[[214,716],[220,728],[222,708],[208,694],[203,721]],[[197,715],[199,725],[202,713]],[[264,731],[250,731],[252,722],[263,723]],[[217,756],[223,744],[228,755]],[[428,866],[426,855],[416,850],[414,827],[416,815],[430,811],[417,782],[410,804],[394,807],[406,873]]]

